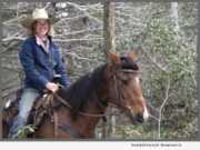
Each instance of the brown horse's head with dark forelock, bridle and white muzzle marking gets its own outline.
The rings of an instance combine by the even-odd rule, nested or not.
[[[122,109],[133,122],[143,122],[149,118],[149,111],[142,96],[140,68],[136,60],[136,53],[124,57],[110,53],[104,79],[109,84],[107,86],[109,102]]]

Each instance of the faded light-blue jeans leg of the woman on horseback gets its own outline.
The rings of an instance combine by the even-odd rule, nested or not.
[[[18,130],[23,128],[27,123],[29,113],[32,109],[32,106],[36,99],[40,96],[40,92],[33,88],[24,88],[21,100],[19,101],[19,113],[13,120],[13,123],[10,128],[10,136],[17,134]]]

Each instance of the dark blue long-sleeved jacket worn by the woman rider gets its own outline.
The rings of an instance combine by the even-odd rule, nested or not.
[[[47,82],[52,81],[54,73],[61,74],[61,84],[68,87],[70,81],[67,76],[64,63],[57,46],[49,38],[49,52],[37,44],[36,37],[24,40],[19,52],[26,79],[24,87],[43,90]]]

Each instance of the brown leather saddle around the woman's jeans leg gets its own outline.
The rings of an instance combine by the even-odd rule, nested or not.
[[[22,89],[17,91],[17,99],[12,101],[8,101],[3,108],[3,113],[6,114],[4,121],[8,126],[10,126],[14,119],[14,117],[19,112],[19,101],[21,99]],[[38,128],[44,117],[50,117],[53,122],[53,110],[61,106],[61,102],[53,100],[53,94],[50,92],[46,92],[42,97],[38,98],[31,109],[31,112],[28,118],[27,124],[32,124]]]

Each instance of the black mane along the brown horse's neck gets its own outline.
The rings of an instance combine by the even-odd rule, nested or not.
[[[102,64],[78,79],[69,88],[60,88],[58,94],[72,107],[72,112],[81,110],[89,101],[92,93],[102,86],[103,71],[107,64]]]

